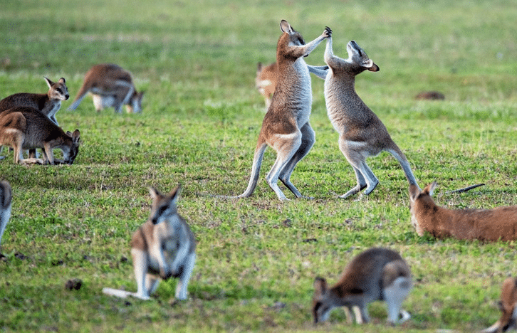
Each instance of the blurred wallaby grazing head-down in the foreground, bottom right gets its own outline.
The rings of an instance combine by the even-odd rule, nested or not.
[[[327,320],[334,307],[359,307],[355,321],[357,324],[368,322],[367,305],[375,300],[386,302],[387,320],[392,324],[405,322],[411,317],[400,310],[412,288],[411,271],[398,253],[387,248],[365,250],[348,263],[333,287],[329,288],[322,277],[316,277],[314,288],[315,324]]]

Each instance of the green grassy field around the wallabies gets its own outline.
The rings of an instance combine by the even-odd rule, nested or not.
[[[380,66],[357,91],[385,122],[420,186],[451,208],[517,204],[517,7],[513,1],[16,1],[0,11],[0,97],[46,92],[43,75],[66,78],[71,98],[95,63],[117,63],[145,90],[143,112],[97,113],[85,98],[63,102],[63,129],[80,129],[72,166],[19,166],[12,153],[0,179],[14,192],[0,260],[1,332],[473,332],[496,321],[501,282],[515,276],[516,242],[419,238],[407,181],[389,154],[369,159],[380,185],[367,198],[338,199],[355,185],[313,77],[316,132],[292,181],[313,200],[280,202],[263,176],[240,194],[264,114],[256,63],[272,62],[278,23],[305,41],[333,29],[334,52],[351,39]],[[306,59],[323,64],[324,43]],[[444,101],[417,101],[424,90]],[[273,164],[269,149],[265,174]],[[447,191],[486,185],[464,194]],[[179,211],[196,235],[189,300],[174,281],[148,302],[102,294],[136,290],[130,237],[150,211],[148,186],[182,184]],[[291,193],[285,190],[288,198]],[[314,277],[338,279],[372,246],[399,251],[414,288],[412,319],[386,327],[348,325],[336,310],[313,326]],[[67,280],[83,281],[65,290]]]

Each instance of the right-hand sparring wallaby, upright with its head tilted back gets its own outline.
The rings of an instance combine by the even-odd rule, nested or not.
[[[347,44],[347,51],[346,60],[334,56],[332,37],[327,39],[324,56],[330,68],[324,89],[327,114],[339,133],[339,149],[352,165],[357,179],[357,185],[340,197],[347,198],[362,189],[365,189],[365,195],[372,193],[379,179],[366,164],[366,158],[376,156],[383,150],[399,161],[409,184],[417,185],[409,162],[393,142],[385,125],[355,92],[355,76],[364,70],[377,72],[379,67],[355,41]]]

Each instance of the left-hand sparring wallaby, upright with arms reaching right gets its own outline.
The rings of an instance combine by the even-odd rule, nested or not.
[[[312,104],[310,75],[303,57],[308,56],[332,31],[325,28],[321,36],[305,44],[301,34],[287,21],[282,20],[280,28],[282,36],[278,39],[276,48],[278,82],[258,135],[248,188],[236,198],[248,197],[253,193],[268,145],[277,154],[275,164],[266,176],[269,186],[280,200],[287,198],[278,187],[278,179],[297,198],[302,196],[291,183],[290,177],[296,164],[305,157],[315,142],[314,130],[309,124]]]

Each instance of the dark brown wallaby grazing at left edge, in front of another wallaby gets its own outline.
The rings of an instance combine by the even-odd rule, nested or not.
[[[14,149],[14,162],[19,164],[55,164],[52,149],[63,151],[63,163],[73,164],[79,153],[79,129],[73,133],[63,129],[33,107],[13,107],[0,113],[0,145]],[[22,149],[41,148],[45,159],[23,159]]]

